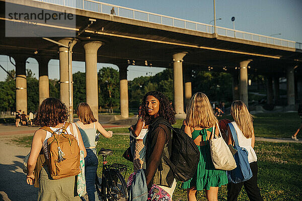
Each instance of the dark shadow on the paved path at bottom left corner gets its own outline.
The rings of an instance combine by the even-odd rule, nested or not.
[[[19,161],[13,162],[13,165],[0,164],[0,192],[5,192],[0,193],[0,200],[37,200],[38,188],[28,185],[26,174],[18,169],[23,164]],[[7,194],[9,199],[3,194]]]

